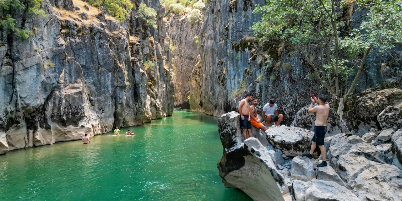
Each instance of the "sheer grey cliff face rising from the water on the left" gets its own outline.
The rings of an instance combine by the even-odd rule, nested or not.
[[[135,10],[119,23],[73,2],[43,0],[46,16],[24,22],[35,30],[28,39],[2,30],[0,154],[172,115],[163,14],[154,30]],[[148,4],[164,13],[158,1]],[[21,24],[21,13],[12,14]]]

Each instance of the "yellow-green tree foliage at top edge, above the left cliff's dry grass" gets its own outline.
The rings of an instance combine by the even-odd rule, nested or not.
[[[105,8],[120,22],[125,21],[130,16],[127,10],[131,10],[133,8],[133,4],[131,3],[130,0],[86,0],[86,1],[92,6]]]

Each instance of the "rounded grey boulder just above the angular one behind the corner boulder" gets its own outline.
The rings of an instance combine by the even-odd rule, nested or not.
[[[381,151],[375,148],[375,146],[365,142],[354,144],[348,153],[358,156],[364,156],[368,160],[372,160],[375,162],[383,164],[386,163],[384,156],[381,154]]]

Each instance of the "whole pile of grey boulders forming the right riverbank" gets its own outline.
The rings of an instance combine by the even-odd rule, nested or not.
[[[218,120],[224,152],[217,168],[225,187],[255,201],[402,200],[402,129],[326,137],[328,166],[316,168],[320,158],[301,156],[310,149],[312,131],[253,129],[256,138],[244,140],[239,116],[232,111]]]

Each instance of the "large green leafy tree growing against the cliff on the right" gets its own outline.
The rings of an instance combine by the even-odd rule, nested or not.
[[[254,10],[262,18],[252,29],[259,41],[300,54],[332,97],[346,103],[372,49],[402,42],[401,8],[401,0],[267,0]],[[367,11],[360,27],[350,25],[353,9]]]

